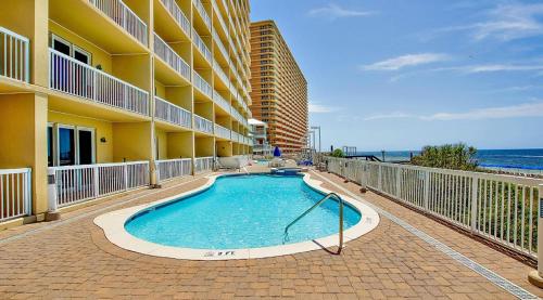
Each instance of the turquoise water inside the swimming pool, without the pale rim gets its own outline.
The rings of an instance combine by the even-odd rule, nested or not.
[[[222,177],[200,194],[134,217],[125,229],[148,242],[195,249],[299,243],[338,233],[339,205],[331,200],[293,225],[283,240],[285,226],[321,198],[301,177]],[[359,219],[357,210],[344,207],[345,229]]]

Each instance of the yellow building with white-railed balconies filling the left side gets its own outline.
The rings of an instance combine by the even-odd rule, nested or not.
[[[31,201],[0,222],[252,153],[249,0],[1,5],[0,169]]]

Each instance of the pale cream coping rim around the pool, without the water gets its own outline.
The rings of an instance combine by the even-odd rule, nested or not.
[[[241,248],[241,249],[194,249],[194,248],[182,248],[174,246],[165,246],[155,243],[151,243],[144,239],[140,239],[125,230],[125,223],[131,218],[137,216],[143,210],[152,210],[156,207],[166,205],[172,201],[179,200],[180,198],[187,198],[192,195],[202,193],[210,188],[219,177],[238,175],[238,174],[212,174],[206,175],[207,182],[193,188],[191,191],[167,197],[161,200],[149,203],[146,205],[134,206],[121,210],[111,211],[97,217],[93,221],[94,224],[100,226],[108,240],[112,244],[138,253],[162,257],[162,258],[173,258],[173,259],[184,259],[184,260],[236,260],[236,259],[260,259],[260,258],[272,258],[294,255],[300,252],[307,252],[314,250],[321,250],[324,248],[338,246],[339,234],[329,235],[321,238],[316,238],[313,240],[300,242],[287,245],[277,245],[262,248]],[[311,179],[310,174],[305,173],[303,175],[303,181],[310,187],[328,194],[331,191],[323,187],[323,182]],[[355,225],[343,232],[344,243],[349,243],[362,235],[372,231],[379,224],[379,214],[371,207],[355,200],[344,194],[339,194],[345,203],[351,207],[356,209],[361,214],[361,221]],[[344,246],[345,247],[345,246]]]

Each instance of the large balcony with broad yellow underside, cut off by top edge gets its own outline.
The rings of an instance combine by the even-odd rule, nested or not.
[[[52,21],[109,53],[147,51],[148,26],[122,0],[50,0],[49,13]]]

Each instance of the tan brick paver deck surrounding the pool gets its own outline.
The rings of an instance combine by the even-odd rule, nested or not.
[[[262,170],[252,168],[251,171]],[[443,224],[359,186],[325,177],[403,219],[528,291],[532,269]],[[92,220],[108,211],[147,204],[203,185],[186,178],[161,190],[121,195],[62,216],[0,232],[0,299],[55,298],[299,298],[299,299],[513,299],[387,218],[346,244],[341,256],[316,250],[285,257],[186,261],[130,252],[111,244]],[[331,191],[336,186],[325,183]],[[114,207],[112,207],[114,206]]]

